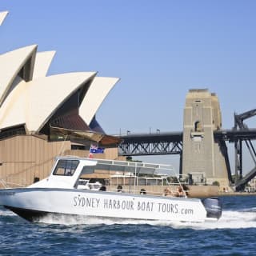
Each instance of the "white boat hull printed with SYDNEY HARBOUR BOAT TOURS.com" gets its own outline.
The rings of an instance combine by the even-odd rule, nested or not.
[[[47,214],[204,222],[197,198],[158,197],[105,191],[23,188],[0,190],[0,205],[31,222]]]

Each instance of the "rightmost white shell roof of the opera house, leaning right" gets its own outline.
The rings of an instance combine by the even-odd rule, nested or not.
[[[94,78],[79,108],[80,116],[88,125],[118,80],[119,78]]]

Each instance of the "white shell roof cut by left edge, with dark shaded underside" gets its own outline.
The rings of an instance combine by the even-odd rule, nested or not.
[[[37,45],[33,45],[0,55],[0,106],[13,89],[18,74],[26,81],[32,79],[36,50]]]

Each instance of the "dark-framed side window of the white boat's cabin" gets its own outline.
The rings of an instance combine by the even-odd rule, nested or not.
[[[72,176],[78,167],[78,163],[78,160],[58,160],[58,164],[54,170],[54,175]]]

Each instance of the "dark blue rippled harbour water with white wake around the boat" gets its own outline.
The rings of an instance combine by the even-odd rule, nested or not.
[[[0,208],[0,255],[256,255],[256,196],[223,197],[218,222],[45,218]]]

